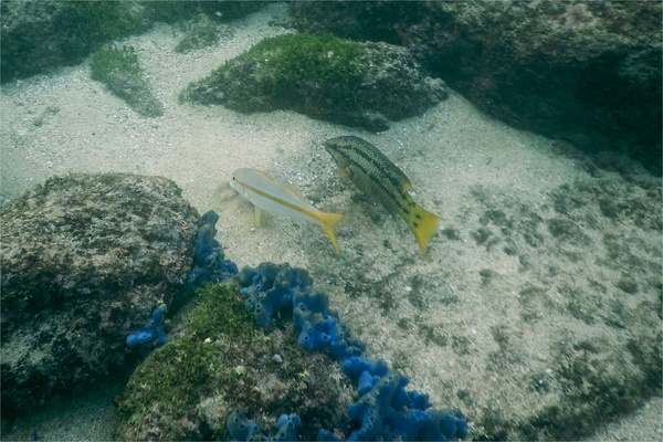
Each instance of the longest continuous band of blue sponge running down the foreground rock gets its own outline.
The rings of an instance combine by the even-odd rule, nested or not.
[[[313,280],[306,271],[262,263],[256,269],[244,267],[238,281],[257,324],[269,325],[275,317],[292,315],[299,333],[297,343],[309,351],[327,351],[356,382],[360,397],[347,410],[356,425],[348,441],[443,441],[467,434],[467,422],[460,412],[429,410],[428,394],[406,390],[408,378],[366,356],[361,343],[352,339],[338,315],[328,309],[327,296],[313,292]],[[318,439],[338,438],[320,431]]]

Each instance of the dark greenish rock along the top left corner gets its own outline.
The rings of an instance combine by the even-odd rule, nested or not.
[[[2,83],[80,63],[103,44],[202,13],[214,21],[244,17],[261,1],[2,1],[0,66]]]

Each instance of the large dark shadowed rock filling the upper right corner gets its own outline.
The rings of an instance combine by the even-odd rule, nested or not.
[[[661,2],[291,3],[307,32],[402,44],[491,115],[661,173]]]

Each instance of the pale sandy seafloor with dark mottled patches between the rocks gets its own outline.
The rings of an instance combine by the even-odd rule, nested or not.
[[[229,259],[307,269],[370,354],[435,406],[463,410],[471,438],[589,435],[660,393],[660,179],[619,156],[608,162],[620,172],[600,169],[453,92],[380,134],[178,103],[189,82],[285,32],[274,24],[284,12],[272,6],[228,41],[186,54],[175,51],[173,27],[128,39],[164,104],[158,118],[92,81],[86,63],[3,85],[1,199],[69,171],[172,179],[201,213],[220,214]],[[428,257],[404,224],[334,175],[322,140],[339,135],[380,148],[417,201],[444,218]],[[267,170],[344,213],[341,252],[317,225],[265,217],[254,228],[252,207],[225,185],[239,167]],[[43,439],[71,439],[73,427],[54,423],[63,419],[20,421],[9,435],[30,438],[36,421]],[[644,439],[660,439],[660,422],[645,427]],[[108,434],[99,424],[88,436]]]

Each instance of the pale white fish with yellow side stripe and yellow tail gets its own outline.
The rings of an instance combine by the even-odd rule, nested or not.
[[[276,181],[255,169],[238,169],[232,173],[230,187],[255,206],[255,224],[260,225],[260,210],[295,220],[319,223],[336,251],[340,251],[334,225],[343,218],[338,213],[323,212],[311,204],[294,186]]]

